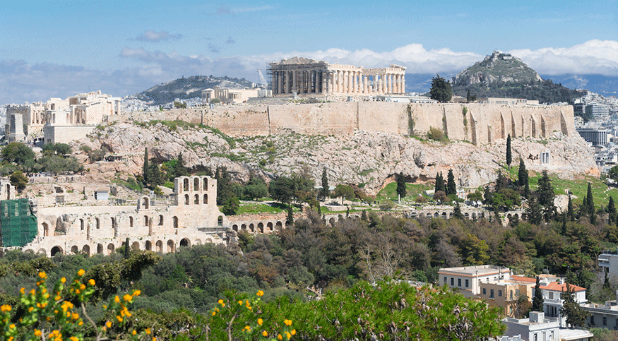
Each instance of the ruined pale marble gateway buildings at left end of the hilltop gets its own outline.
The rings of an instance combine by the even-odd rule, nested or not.
[[[109,116],[118,115],[119,103],[119,97],[98,90],[66,100],[10,104],[6,107],[6,140],[43,138],[44,143],[68,143],[83,138]]]

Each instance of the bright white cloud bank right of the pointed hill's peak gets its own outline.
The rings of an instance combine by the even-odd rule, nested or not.
[[[574,47],[516,49],[509,51],[538,73],[598,73],[618,76],[618,41],[588,40]]]

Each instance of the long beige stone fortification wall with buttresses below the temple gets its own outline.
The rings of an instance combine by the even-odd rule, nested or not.
[[[140,112],[126,118],[201,123],[230,136],[266,136],[283,131],[341,136],[355,129],[422,136],[434,127],[443,129],[452,140],[479,144],[506,138],[508,134],[513,138],[548,138],[554,131],[566,136],[575,134],[570,105],[328,102],[172,109]]]

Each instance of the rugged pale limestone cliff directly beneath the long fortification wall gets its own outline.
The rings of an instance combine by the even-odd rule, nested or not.
[[[148,147],[149,155],[162,161],[176,158],[182,152],[188,167],[226,166],[237,181],[247,180],[249,171],[253,170],[265,179],[304,171],[319,182],[326,167],[331,183],[364,184],[364,189],[372,194],[399,172],[410,182],[424,182],[434,179],[437,172],[446,174],[451,168],[459,186],[482,186],[496,178],[506,150],[504,139],[476,146],[366,131],[354,131],[350,136],[283,132],[232,139],[204,126],[129,122],[117,122],[97,130],[76,144],[93,149],[105,146],[112,153],[124,156],[123,161],[86,166],[91,172],[109,178],[117,172],[140,174],[143,150]],[[579,136],[554,132],[543,140],[515,138],[511,145],[513,165],[522,157],[526,167],[537,172],[547,169],[561,177],[598,174],[593,152]],[[549,164],[540,164],[541,152],[549,152]]]

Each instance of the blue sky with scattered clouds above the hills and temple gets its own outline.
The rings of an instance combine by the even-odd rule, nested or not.
[[[0,104],[182,76],[257,83],[292,56],[456,73],[499,49],[542,75],[618,76],[618,0],[24,0],[2,5],[0,32]]]

